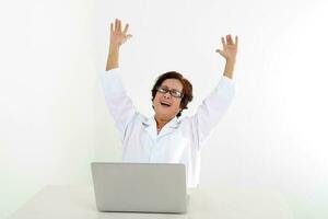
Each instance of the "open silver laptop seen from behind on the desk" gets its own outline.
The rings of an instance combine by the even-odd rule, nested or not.
[[[99,211],[187,211],[184,164],[91,164],[96,206]]]

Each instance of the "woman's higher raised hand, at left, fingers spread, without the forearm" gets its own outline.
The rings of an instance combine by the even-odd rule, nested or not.
[[[110,23],[110,47],[118,48],[120,45],[126,43],[129,38],[132,37],[131,34],[127,34],[129,24],[126,24],[125,30],[121,31],[120,20],[115,20],[115,26]]]

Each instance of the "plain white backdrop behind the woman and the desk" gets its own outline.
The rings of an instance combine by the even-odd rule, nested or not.
[[[191,115],[222,76],[220,37],[239,36],[236,96],[202,152],[201,186],[276,189],[295,218],[327,218],[328,3],[32,0],[1,2],[0,218],[47,184],[91,184],[90,162],[119,161],[97,72],[109,23],[130,23],[126,89],[152,115],[168,70],[194,84]]]

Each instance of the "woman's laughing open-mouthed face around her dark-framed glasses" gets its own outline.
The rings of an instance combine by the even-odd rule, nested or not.
[[[183,83],[177,79],[164,80],[161,88],[183,93]],[[172,96],[171,92],[161,93],[157,91],[153,100],[155,117],[161,120],[171,120],[181,110],[180,102],[181,99]]]

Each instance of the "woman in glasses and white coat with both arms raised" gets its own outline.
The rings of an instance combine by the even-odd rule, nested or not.
[[[180,118],[192,100],[192,85],[180,73],[166,72],[152,89],[154,115],[139,114],[120,80],[118,65],[120,46],[132,35],[129,25],[119,20],[110,24],[110,44],[106,71],[101,73],[105,97],[122,141],[125,162],[183,163],[187,186],[199,183],[200,151],[229,107],[234,95],[233,69],[237,54],[237,37],[222,37],[223,49],[216,51],[226,60],[223,77],[213,92],[203,100],[197,113]]]

